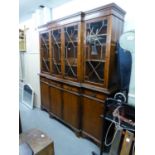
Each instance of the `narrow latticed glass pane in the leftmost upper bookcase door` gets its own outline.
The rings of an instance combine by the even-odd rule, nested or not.
[[[49,64],[49,34],[43,33],[40,35],[41,38],[41,55],[42,55],[42,71],[50,72]]]

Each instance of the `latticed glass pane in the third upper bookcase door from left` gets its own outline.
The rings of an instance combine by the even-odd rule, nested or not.
[[[65,76],[77,78],[78,26],[69,26],[65,31]]]

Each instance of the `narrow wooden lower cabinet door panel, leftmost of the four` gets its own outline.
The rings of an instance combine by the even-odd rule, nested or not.
[[[49,111],[49,86],[48,84],[41,82],[40,83],[41,89],[41,105],[43,108]]]

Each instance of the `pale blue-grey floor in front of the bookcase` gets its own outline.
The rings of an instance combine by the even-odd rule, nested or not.
[[[99,155],[99,147],[84,138],[78,138],[73,131],[65,127],[48,113],[38,108],[33,110],[20,104],[22,130],[38,128],[54,141],[55,155],[92,155],[92,151]],[[107,155],[106,153],[104,155]]]

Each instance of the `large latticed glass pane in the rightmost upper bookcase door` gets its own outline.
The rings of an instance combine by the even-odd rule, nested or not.
[[[103,83],[106,41],[107,20],[86,24],[85,80]]]

